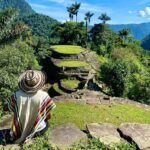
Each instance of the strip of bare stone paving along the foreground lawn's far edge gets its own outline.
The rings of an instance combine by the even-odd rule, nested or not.
[[[63,102],[80,102],[83,104],[114,104],[114,103],[119,103],[119,104],[132,104],[135,105],[139,108],[143,108],[147,111],[150,111],[150,105],[146,104],[141,104],[139,102],[125,99],[125,98],[120,98],[120,97],[111,97],[108,95],[105,95],[102,92],[96,92],[96,91],[90,91],[90,90],[78,90],[77,92],[71,93],[71,94],[66,94],[62,96],[55,97],[54,100],[56,101],[62,101]]]

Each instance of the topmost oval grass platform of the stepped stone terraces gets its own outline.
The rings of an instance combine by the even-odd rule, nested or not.
[[[80,46],[73,45],[56,45],[51,48],[61,54],[80,54],[81,52],[84,52]]]

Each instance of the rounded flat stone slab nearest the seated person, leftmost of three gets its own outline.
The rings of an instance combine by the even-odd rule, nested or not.
[[[69,148],[74,143],[86,139],[86,134],[80,131],[74,124],[66,124],[52,131],[49,143],[55,147]]]

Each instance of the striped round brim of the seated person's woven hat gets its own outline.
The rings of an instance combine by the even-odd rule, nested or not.
[[[19,81],[18,81],[19,89],[24,91],[25,93],[29,93],[29,94],[36,93],[38,90],[43,88],[43,86],[46,82],[45,73],[43,73],[41,71],[34,71],[34,72],[36,72],[36,74],[39,77],[39,81],[35,86],[30,87],[26,84],[25,74],[27,73],[27,71],[24,72],[23,74],[21,74],[20,77],[19,77]]]

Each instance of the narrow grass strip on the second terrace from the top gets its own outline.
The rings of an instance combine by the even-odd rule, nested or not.
[[[61,61],[57,64],[59,67],[73,67],[73,68],[77,68],[77,67],[86,67],[89,64],[83,61]]]

